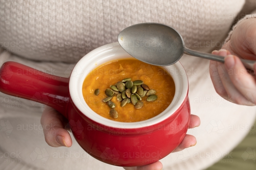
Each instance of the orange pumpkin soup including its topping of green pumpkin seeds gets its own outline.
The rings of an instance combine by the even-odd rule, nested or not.
[[[92,70],[83,82],[82,93],[99,115],[138,122],[163,112],[174,98],[175,85],[163,68],[129,58]]]

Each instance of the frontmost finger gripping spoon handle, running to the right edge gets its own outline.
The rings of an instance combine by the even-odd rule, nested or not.
[[[256,83],[254,77],[249,74],[241,60],[234,55],[225,57],[225,68],[229,71],[229,77],[234,86],[243,95],[242,104],[255,105]]]

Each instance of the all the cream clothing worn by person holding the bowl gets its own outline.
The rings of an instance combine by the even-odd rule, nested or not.
[[[231,29],[234,22],[256,18],[252,14],[255,9],[255,0],[0,0],[0,66],[10,60],[69,77],[81,57],[116,42],[121,30],[142,22],[170,25],[180,32],[189,48],[211,52],[229,40],[236,28],[235,24]],[[199,170],[218,161],[221,156],[217,153],[228,153],[239,143],[247,130],[230,131],[228,127],[253,123],[256,109],[217,95],[209,77],[208,60],[184,55],[180,62],[189,79],[191,113],[200,117],[201,125],[188,130],[197,138],[196,146],[171,153],[161,162],[163,169]],[[201,101],[205,97],[215,100]],[[0,170],[122,169],[86,154],[72,135],[70,148],[48,146],[38,128],[43,108],[0,93]],[[220,130],[209,130],[215,124]],[[215,157],[195,156],[208,152]],[[75,153],[78,158],[72,157]]]

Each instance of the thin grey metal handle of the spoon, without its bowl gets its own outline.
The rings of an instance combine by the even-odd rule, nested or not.
[[[219,61],[224,63],[224,57],[222,56],[217,56],[217,55],[213,55],[210,53],[204,53],[204,52],[199,52],[199,51],[195,51],[195,50],[191,50],[188,48],[184,48],[183,50],[184,54],[188,54],[191,56],[196,56],[196,57],[201,57],[201,58],[205,58],[205,59],[209,59],[209,60],[214,60],[214,61]],[[244,65],[245,68],[247,68],[248,70],[253,70],[253,65],[256,61],[254,60],[245,60],[245,59],[240,59]]]

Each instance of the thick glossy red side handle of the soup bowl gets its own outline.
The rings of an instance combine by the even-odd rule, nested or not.
[[[0,68],[2,93],[46,104],[67,117],[69,79],[7,61]]]

